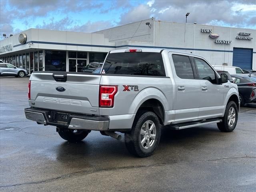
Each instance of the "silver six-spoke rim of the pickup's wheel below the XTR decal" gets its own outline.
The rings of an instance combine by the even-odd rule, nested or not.
[[[147,120],[140,129],[140,144],[143,148],[148,149],[153,146],[156,139],[156,125],[154,122]]]

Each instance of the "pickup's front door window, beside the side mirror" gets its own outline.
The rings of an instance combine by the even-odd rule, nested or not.
[[[202,59],[194,58],[195,68],[198,71],[198,78],[216,83],[214,70]]]

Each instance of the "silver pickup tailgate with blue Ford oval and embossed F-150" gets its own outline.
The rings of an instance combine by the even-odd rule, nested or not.
[[[33,72],[30,80],[32,107],[99,114],[101,76],[72,72]]]

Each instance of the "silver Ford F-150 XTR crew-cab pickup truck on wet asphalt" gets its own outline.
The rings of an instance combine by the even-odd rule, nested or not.
[[[202,57],[159,49],[110,51],[100,74],[33,72],[26,118],[56,126],[70,142],[91,130],[124,140],[129,152],[150,156],[161,127],[180,130],[217,123],[236,127],[238,88]]]

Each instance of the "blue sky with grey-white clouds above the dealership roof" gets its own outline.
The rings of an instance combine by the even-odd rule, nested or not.
[[[256,29],[256,0],[0,0],[0,34],[29,28],[94,32],[156,20]]]

